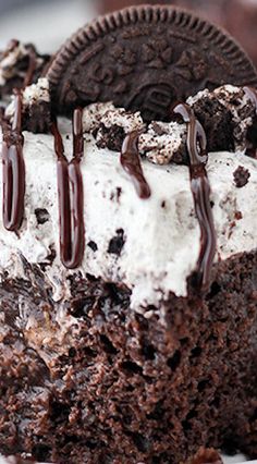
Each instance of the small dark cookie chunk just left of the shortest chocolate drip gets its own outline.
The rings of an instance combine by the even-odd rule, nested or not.
[[[111,127],[106,127],[105,124],[101,123],[96,135],[97,147],[108,148],[109,150],[120,152],[124,138],[125,131],[123,127],[117,124]]]

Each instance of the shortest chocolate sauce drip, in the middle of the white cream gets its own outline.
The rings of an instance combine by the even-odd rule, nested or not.
[[[138,196],[143,199],[150,197],[150,187],[144,176],[139,152],[138,152],[138,137],[140,133],[133,131],[124,138],[121,150],[121,164],[133,181]]]

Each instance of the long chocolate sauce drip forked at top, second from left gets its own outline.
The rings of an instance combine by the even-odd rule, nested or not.
[[[74,269],[82,262],[85,249],[83,179],[81,160],[84,155],[83,111],[73,115],[73,158],[69,162],[64,155],[62,136],[57,122],[52,123],[54,150],[57,154],[60,253],[62,264]]]

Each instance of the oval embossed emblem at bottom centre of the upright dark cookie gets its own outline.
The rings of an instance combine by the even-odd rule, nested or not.
[[[148,84],[132,96],[127,108],[139,110],[145,121],[166,120],[175,95],[175,89],[167,83]]]

